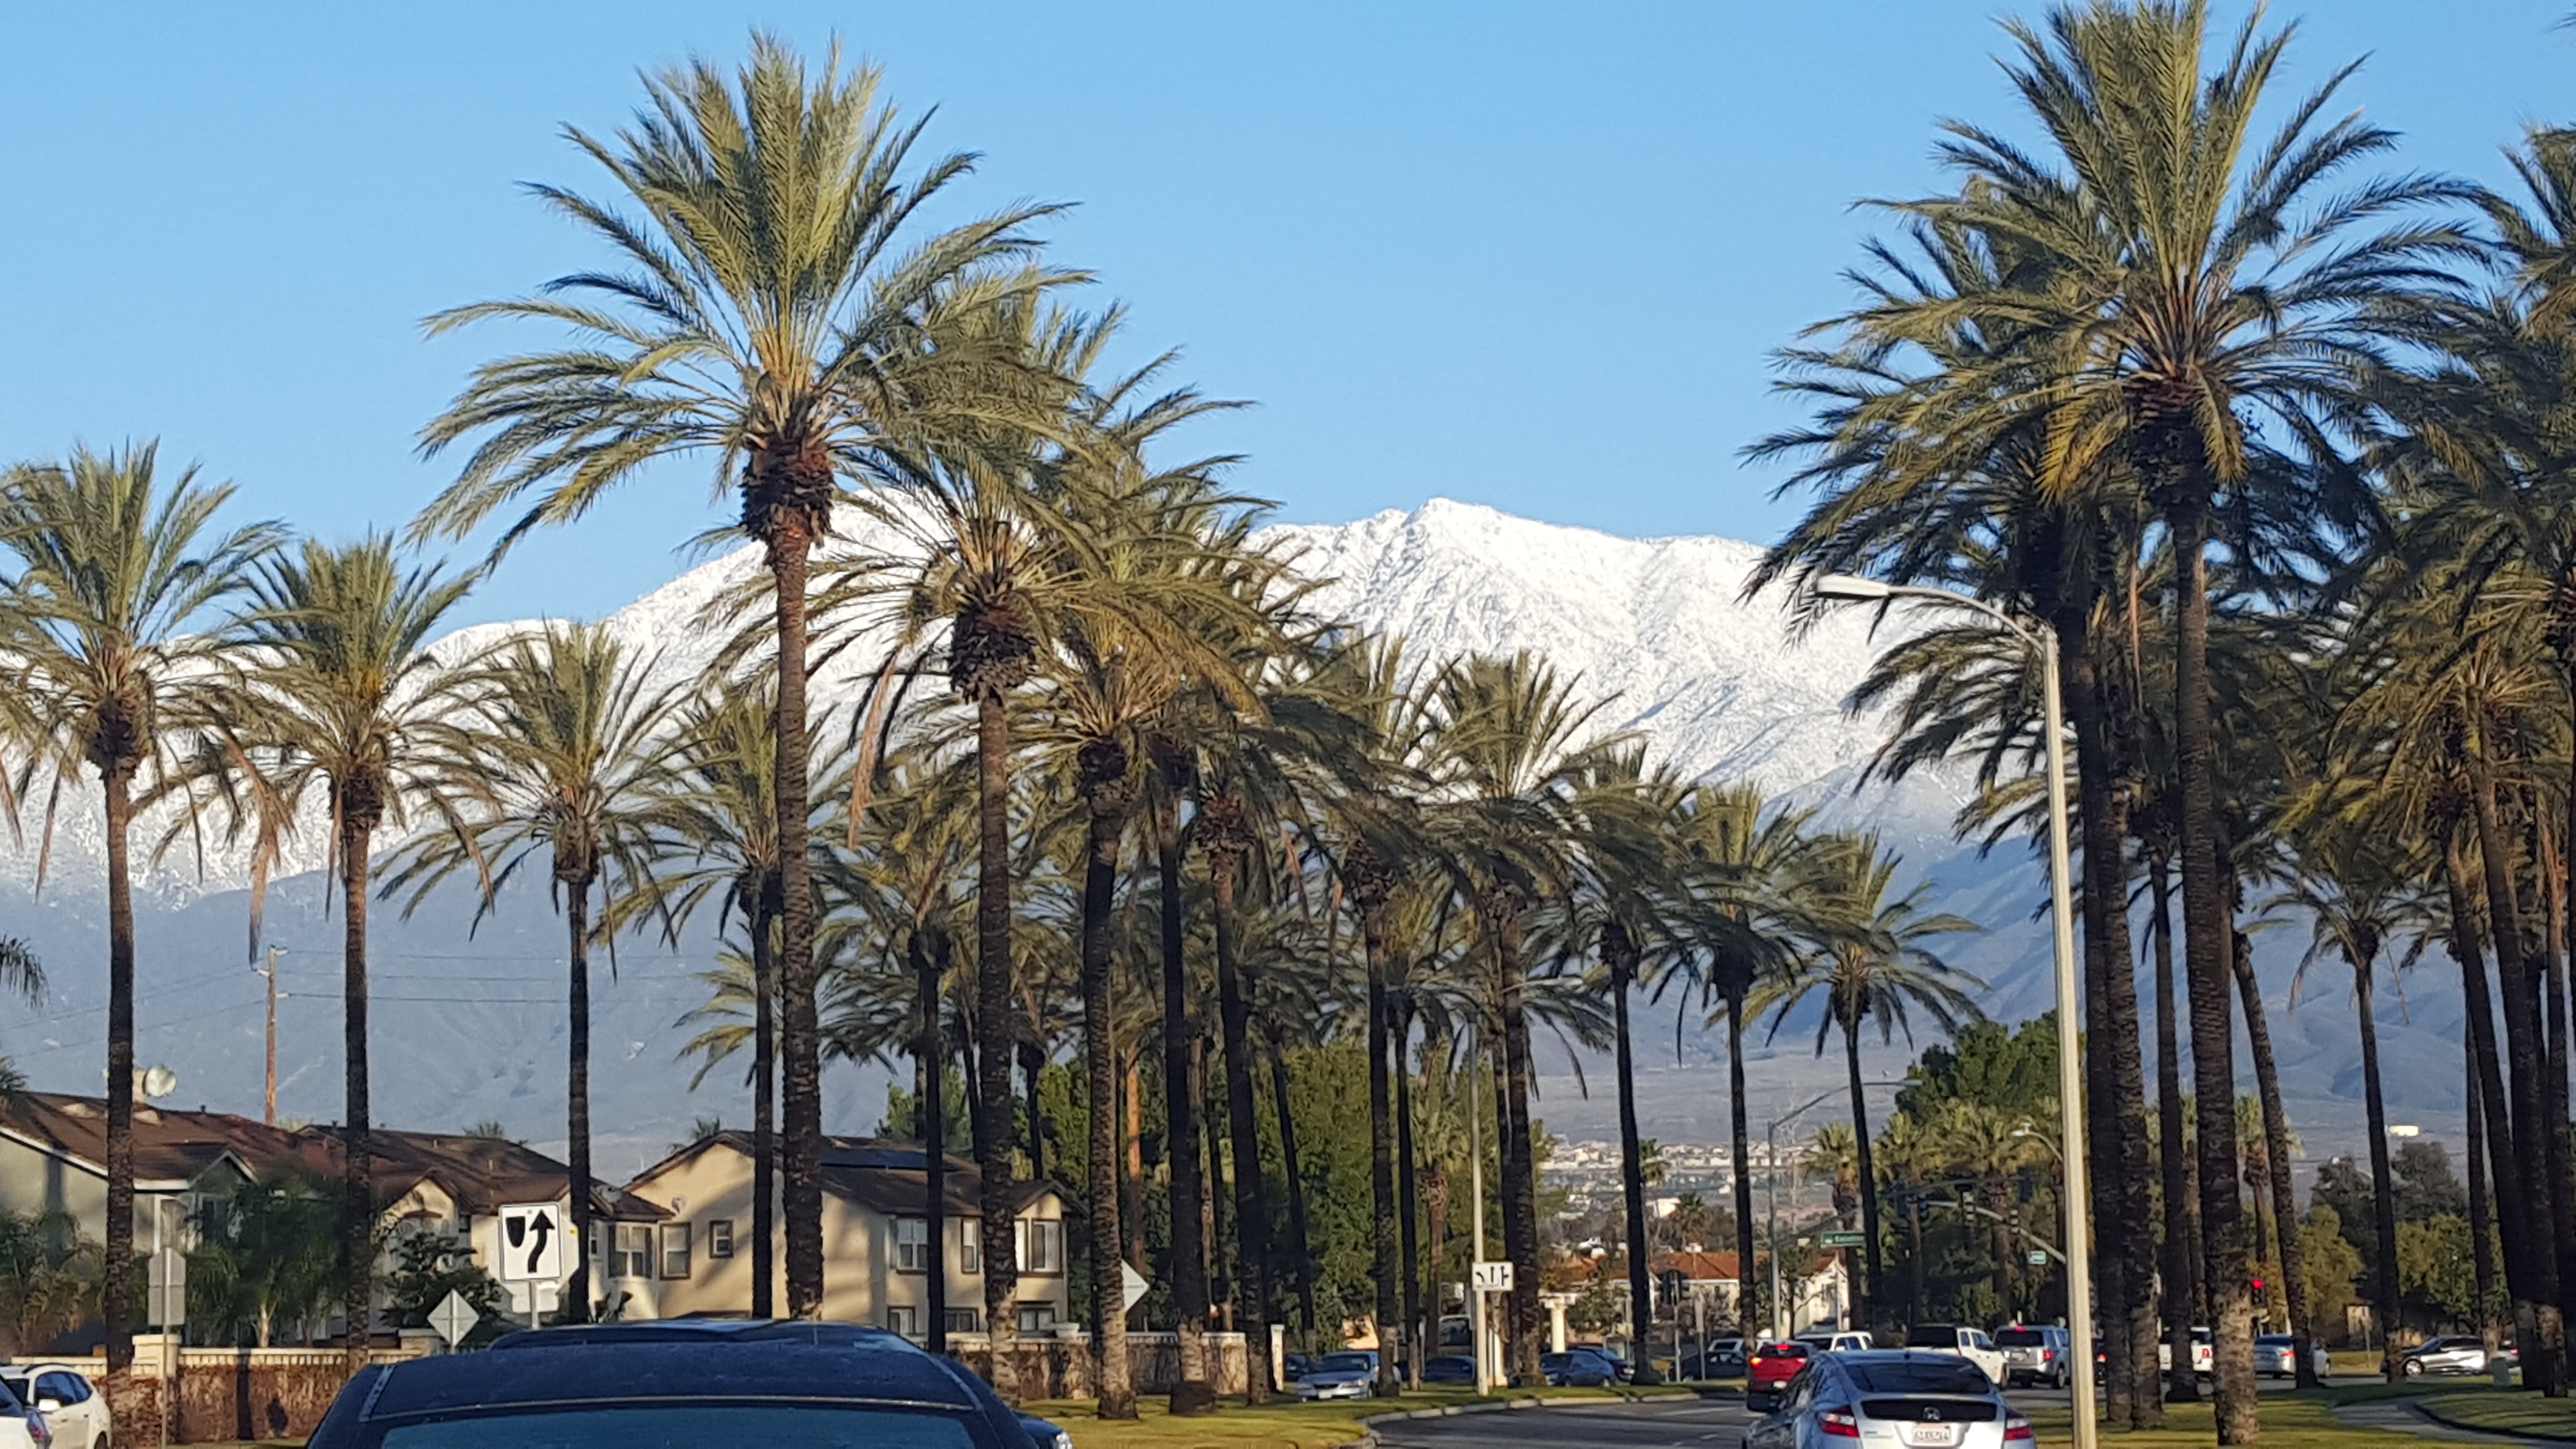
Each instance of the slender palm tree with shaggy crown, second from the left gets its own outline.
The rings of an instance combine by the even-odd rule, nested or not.
[[[456,712],[471,704],[471,665],[443,665],[428,645],[464,601],[471,578],[440,578],[435,565],[404,567],[394,541],[307,539],[301,552],[268,559],[245,616],[255,673],[227,701],[227,761],[265,776],[283,802],[330,802],[332,861],[340,874],[340,993],[348,1062],[343,1271],[348,1274],[348,1359],[366,1364],[376,1266],[376,1158],[368,1147],[366,902],[376,830],[404,825],[417,802],[453,820],[438,794],[440,745]]]

